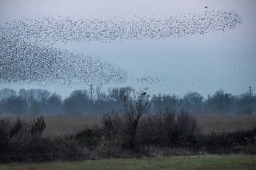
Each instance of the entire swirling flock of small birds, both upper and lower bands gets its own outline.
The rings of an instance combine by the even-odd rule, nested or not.
[[[0,83],[125,83],[129,71],[94,55],[54,47],[56,42],[111,42],[199,36],[227,31],[242,23],[235,12],[205,11],[170,17],[92,20],[70,17],[23,17],[0,23]],[[134,78],[137,83],[163,83],[164,78]]]

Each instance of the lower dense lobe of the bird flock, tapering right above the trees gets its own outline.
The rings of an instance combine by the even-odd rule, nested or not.
[[[1,38],[1,83],[78,85],[124,83],[127,70],[100,57]]]

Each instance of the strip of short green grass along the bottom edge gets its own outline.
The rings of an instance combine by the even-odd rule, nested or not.
[[[256,156],[207,155],[1,164],[0,169],[255,169]]]

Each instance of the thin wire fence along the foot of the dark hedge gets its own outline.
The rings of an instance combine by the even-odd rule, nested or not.
[[[126,152],[130,156],[164,156],[171,155],[203,155],[205,153],[249,153],[256,154],[256,146],[247,147],[178,147],[178,148],[134,148]],[[100,153],[92,152],[58,152],[58,153],[27,153],[27,154],[0,154],[0,162],[29,162],[29,161],[59,161],[59,160],[88,160],[96,158],[116,157],[114,153],[109,151],[101,151]],[[121,156],[119,154],[119,156]],[[118,156],[117,156],[118,157]]]

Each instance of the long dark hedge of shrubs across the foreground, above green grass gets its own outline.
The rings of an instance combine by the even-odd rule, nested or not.
[[[39,129],[36,132],[43,132],[43,118],[38,118],[32,126],[24,124],[20,119],[14,123],[2,119],[0,161],[130,158],[151,156],[153,150],[150,148],[163,150],[165,155],[199,152],[256,153],[256,128],[251,131],[202,135],[194,118],[185,111],[145,116],[139,122],[135,136],[136,147],[124,145],[130,141],[130,134],[123,124],[124,119],[116,113],[107,114],[103,118],[103,127],[83,129],[66,137],[35,136],[32,126],[33,129]]]

